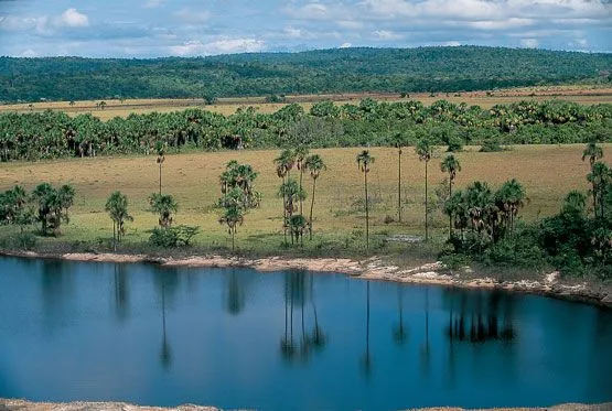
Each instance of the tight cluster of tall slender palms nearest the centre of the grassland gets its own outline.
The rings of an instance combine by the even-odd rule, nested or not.
[[[326,165],[319,154],[309,155],[309,150],[303,145],[294,150],[283,150],[275,159],[275,164],[277,175],[282,179],[278,196],[282,198],[284,244],[288,242],[287,230],[289,230],[291,244],[303,245],[303,235],[305,232],[310,232],[310,238],[312,239],[312,213],[314,209],[316,180],[321,172],[326,169]],[[300,173],[299,181],[291,179],[291,170],[293,167]],[[303,202],[307,198],[307,192],[303,187],[303,175],[307,171],[310,172],[312,179],[312,197],[308,219],[303,215]]]

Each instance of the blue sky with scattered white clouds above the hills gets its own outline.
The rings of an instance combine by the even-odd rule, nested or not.
[[[0,55],[477,44],[612,51],[611,0],[0,0]]]

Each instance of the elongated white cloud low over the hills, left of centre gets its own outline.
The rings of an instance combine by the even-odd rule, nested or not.
[[[266,48],[266,43],[256,39],[219,39],[210,43],[190,41],[170,47],[172,55],[214,55],[229,53],[256,53]]]

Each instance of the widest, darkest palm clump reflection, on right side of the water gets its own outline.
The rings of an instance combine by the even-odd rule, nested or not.
[[[451,342],[512,342],[516,337],[512,318],[512,299],[500,292],[461,294],[459,314],[452,310],[447,325]]]

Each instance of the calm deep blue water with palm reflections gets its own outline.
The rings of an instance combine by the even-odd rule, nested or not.
[[[612,401],[612,312],[541,296],[0,258],[0,313],[3,398],[260,410]]]

